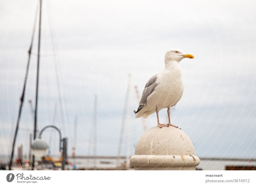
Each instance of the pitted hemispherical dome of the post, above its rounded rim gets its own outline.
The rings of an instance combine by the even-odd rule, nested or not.
[[[193,156],[194,146],[181,129],[175,127],[153,127],[139,139],[135,155]]]

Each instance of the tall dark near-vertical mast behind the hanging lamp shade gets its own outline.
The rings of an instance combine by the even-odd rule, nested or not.
[[[39,81],[39,62],[40,62],[40,43],[41,43],[41,18],[42,17],[42,0],[39,7],[39,30],[38,30],[38,48],[37,48],[37,69],[36,69],[36,105],[35,105],[35,120],[34,120],[34,139],[36,139],[37,125],[37,105],[38,105],[38,81]],[[33,155],[32,168],[34,169],[35,156]]]

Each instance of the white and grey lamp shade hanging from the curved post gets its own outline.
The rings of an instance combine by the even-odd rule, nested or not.
[[[41,138],[36,138],[31,143],[31,150],[34,156],[41,158],[46,153],[47,143]]]

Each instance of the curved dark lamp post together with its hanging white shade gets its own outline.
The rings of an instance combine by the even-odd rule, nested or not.
[[[47,128],[55,128],[60,135],[60,151],[62,150],[62,170],[65,169],[65,161],[67,158],[67,138],[62,138],[59,128],[53,125],[47,125],[40,131],[40,135],[34,141],[31,142],[31,150],[34,156],[43,157],[47,150],[47,143],[42,139],[42,133]]]

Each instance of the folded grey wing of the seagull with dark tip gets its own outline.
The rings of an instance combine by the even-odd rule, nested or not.
[[[143,90],[143,93],[142,93],[142,96],[141,96],[141,99],[140,99],[140,104],[139,104],[139,107],[135,112],[135,114],[137,112],[139,112],[146,104],[147,104],[147,98],[150,94],[152,94],[152,92],[154,92],[156,86],[157,86],[157,83],[156,83],[156,79],[157,79],[157,75],[154,75],[152,78],[150,78]]]

